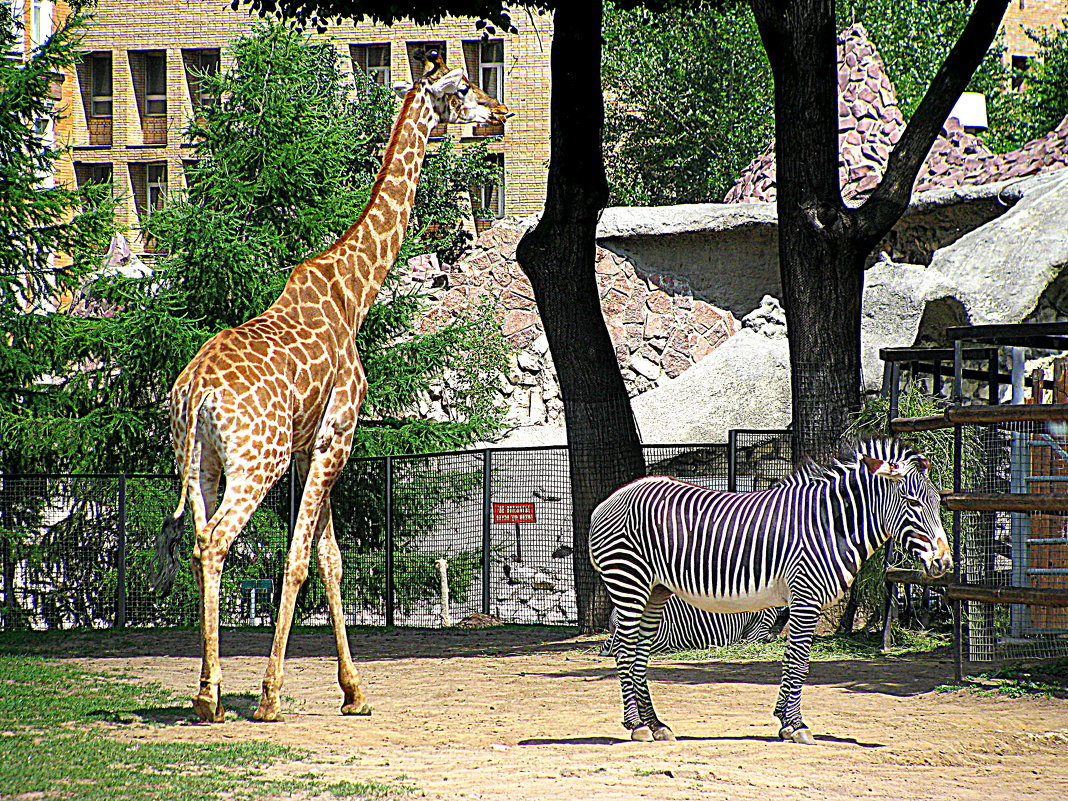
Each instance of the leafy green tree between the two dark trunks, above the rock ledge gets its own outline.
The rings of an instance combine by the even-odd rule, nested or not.
[[[601,72],[613,205],[719,201],[771,139],[771,72],[748,9],[609,5]]]

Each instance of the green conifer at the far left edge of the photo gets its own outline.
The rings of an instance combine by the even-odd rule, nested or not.
[[[79,443],[53,424],[65,428],[95,404],[66,371],[69,315],[57,308],[99,269],[114,204],[108,186],[52,178],[68,148],[49,135],[65,111],[52,89],[76,63],[88,22],[76,5],[26,59],[0,59],[0,473],[72,458]],[[21,51],[22,36],[11,5],[0,4],[0,52]]]

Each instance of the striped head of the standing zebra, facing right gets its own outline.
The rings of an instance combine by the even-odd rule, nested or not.
[[[942,528],[938,487],[930,480],[930,461],[894,440],[871,440],[857,452],[859,466],[889,482],[883,523],[901,547],[924,563],[928,576],[953,567],[953,551]]]

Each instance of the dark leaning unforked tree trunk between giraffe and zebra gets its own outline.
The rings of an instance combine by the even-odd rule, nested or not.
[[[638,426],[601,314],[596,230],[608,201],[601,154],[601,4],[563,4],[550,56],[550,159],[545,211],[519,242],[560,380],[567,425],[575,586],[583,632],[608,625],[603,584],[590,563],[590,515],[645,472]]]

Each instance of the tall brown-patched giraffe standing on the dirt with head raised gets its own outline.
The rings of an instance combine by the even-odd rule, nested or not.
[[[337,650],[342,714],[371,713],[345,632],[341,550],[329,500],[348,459],[367,389],[356,333],[399,250],[430,129],[439,122],[499,123],[511,115],[461,70],[450,70],[437,51],[419,58],[426,62],[426,73],[414,85],[394,87],[404,101],[360,218],[330,248],[295,267],[265,312],[208,340],[171,390],[171,440],[182,493],[157,537],[160,567],[154,583],[161,593],[173,583],[188,502],[195,528],[192,571],[202,648],[193,708],[204,722],[224,716],[219,664],[223,561],[290,459],[304,489],[254,717],[280,718],[286,641],[313,541]],[[217,506],[222,476],[225,491]]]

